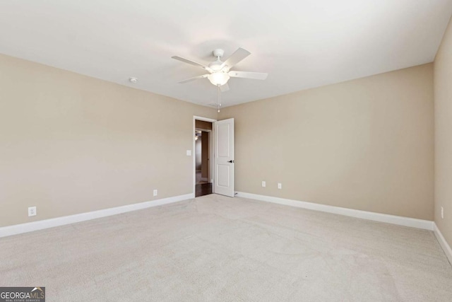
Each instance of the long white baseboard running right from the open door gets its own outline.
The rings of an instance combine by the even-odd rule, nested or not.
[[[341,207],[328,206],[326,204],[314,204],[312,202],[302,202],[294,199],[285,199],[280,197],[271,197],[265,195],[237,192],[237,197],[261,200],[263,202],[273,202],[275,204],[285,204],[286,206],[311,209],[314,211],[323,211],[331,214],[352,216],[361,219],[398,224],[399,226],[410,226],[412,228],[422,228],[424,230],[434,231],[434,222],[410,217],[395,216],[388,214],[374,213],[370,211],[360,211]]]

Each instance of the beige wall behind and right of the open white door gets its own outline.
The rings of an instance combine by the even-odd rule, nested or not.
[[[432,220],[433,110],[425,64],[224,108],[219,120],[235,119],[237,191]]]

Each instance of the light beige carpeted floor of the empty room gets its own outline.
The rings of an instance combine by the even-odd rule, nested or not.
[[[210,194],[0,238],[47,301],[452,301],[430,231]]]

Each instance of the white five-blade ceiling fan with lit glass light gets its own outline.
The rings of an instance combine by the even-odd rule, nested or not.
[[[208,66],[199,64],[197,62],[191,61],[189,59],[185,59],[183,57],[174,56],[172,59],[177,59],[179,61],[201,67],[208,71],[208,74],[203,74],[202,76],[195,76],[194,78],[186,79],[184,81],[180,81],[179,83],[186,83],[189,81],[195,81],[198,79],[207,78],[210,83],[218,86],[220,91],[228,91],[229,86],[227,85],[227,81],[232,78],[243,78],[243,79],[255,79],[255,80],[265,80],[267,79],[268,74],[263,74],[261,72],[250,72],[250,71],[231,71],[230,69],[235,66],[235,64],[241,62],[243,59],[248,57],[251,52],[248,50],[244,50],[243,48],[239,48],[236,50],[229,58],[225,60],[225,62],[221,61],[222,56],[225,54],[224,50],[214,50],[212,52],[213,57],[217,59],[208,64]]]

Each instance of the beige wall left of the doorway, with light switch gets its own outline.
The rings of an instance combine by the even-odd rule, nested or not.
[[[215,109],[4,55],[0,83],[0,226],[193,192]]]

